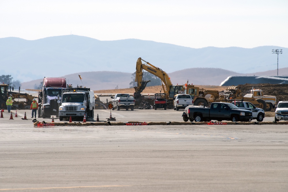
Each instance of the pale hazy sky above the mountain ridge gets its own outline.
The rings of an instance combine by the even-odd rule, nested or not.
[[[0,38],[75,34],[192,48],[288,47],[287,0],[0,0]]]

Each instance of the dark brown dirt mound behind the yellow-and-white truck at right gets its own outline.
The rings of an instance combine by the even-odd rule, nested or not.
[[[288,101],[288,84],[248,84],[238,85],[239,89],[242,91],[244,96],[250,93],[252,87],[254,89],[262,89],[264,95],[270,95],[276,97],[276,102]]]

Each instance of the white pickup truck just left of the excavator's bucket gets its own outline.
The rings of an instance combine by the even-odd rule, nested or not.
[[[118,93],[116,94],[114,97],[112,98],[112,110],[116,110],[119,111],[120,108],[124,108],[126,109],[126,111],[129,110],[129,108],[131,109],[131,111],[134,110],[134,105],[135,105],[135,99],[134,97],[130,97],[129,94],[126,93]]]

